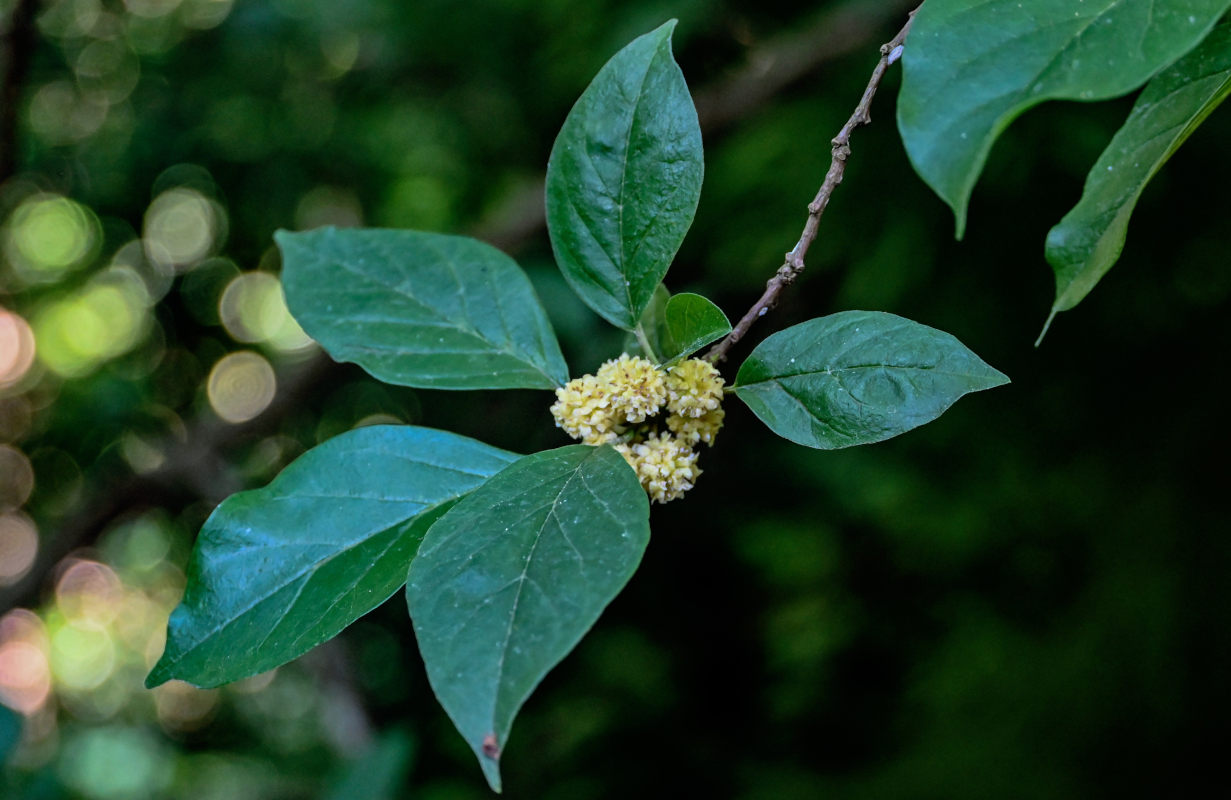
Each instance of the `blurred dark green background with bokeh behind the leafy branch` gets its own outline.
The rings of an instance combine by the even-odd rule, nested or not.
[[[38,347],[0,374],[0,700],[25,715],[4,796],[487,796],[400,594],[276,674],[142,688],[229,492],[361,421],[566,443],[547,393],[384,386],[302,347],[276,293],[220,311],[224,289],[277,273],[277,228],[471,233],[516,255],[591,372],[620,340],[551,265],[543,167],[602,63],[678,17],[707,174],[667,283],[735,319],[910,5],[0,2],[0,306]],[[956,242],[902,151],[897,82],[804,278],[724,370],[782,326],[876,309],[1013,383],[832,453],[730,401],[698,487],[655,507],[640,571],[521,714],[508,796],[1153,798],[1214,772],[1231,114],[1153,180],[1120,263],[1035,348],[1043,239],[1131,98],[1016,122]],[[235,351],[272,370],[250,358],[211,393]],[[18,722],[0,714],[2,742]]]

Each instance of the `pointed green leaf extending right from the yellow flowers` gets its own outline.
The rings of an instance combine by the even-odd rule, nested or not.
[[[1006,383],[944,331],[883,311],[842,311],[757,345],[735,394],[778,436],[832,450],[905,433],[961,395]]]

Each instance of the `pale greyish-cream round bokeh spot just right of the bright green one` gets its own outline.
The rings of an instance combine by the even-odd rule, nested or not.
[[[191,188],[162,192],[145,210],[145,254],[155,263],[188,270],[222,239],[225,212]]]

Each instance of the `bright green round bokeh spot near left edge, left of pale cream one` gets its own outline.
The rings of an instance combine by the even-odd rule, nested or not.
[[[98,245],[90,209],[58,194],[26,198],[9,218],[5,254],[23,281],[43,283],[87,263]]]

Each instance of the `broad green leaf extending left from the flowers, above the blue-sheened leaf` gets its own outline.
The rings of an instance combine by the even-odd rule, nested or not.
[[[490,245],[416,230],[279,230],[287,304],[330,356],[421,389],[569,379],[526,273]]]

